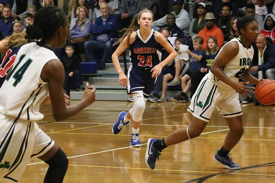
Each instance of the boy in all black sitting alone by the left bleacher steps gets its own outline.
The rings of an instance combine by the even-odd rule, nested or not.
[[[76,91],[82,91],[82,78],[79,71],[80,57],[76,54],[72,45],[65,46],[66,55],[61,58],[65,70],[64,88],[66,94],[70,96],[70,84],[76,84]]]

